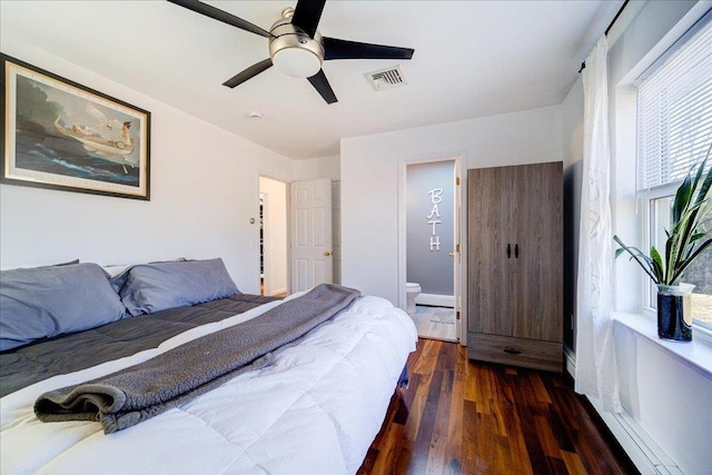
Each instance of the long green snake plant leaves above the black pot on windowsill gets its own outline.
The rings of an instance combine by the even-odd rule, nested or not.
[[[695,167],[692,167],[675,192],[672,205],[672,230],[665,229],[668,240],[664,254],[652,246],[647,256],[635,247],[624,245],[617,236],[613,236],[613,239],[621,245],[615,250],[615,257],[623,253],[630,254],[631,259],[635,259],[656,285],[680,285],[688,266],[712,245],[712,238],[708,239],[710,231],[701,226],[704,221],[712,219],[710,191],[712,168],[704,172],[711,150],[712,147],[708,149],[706,157],[696,167],[696,171]]]

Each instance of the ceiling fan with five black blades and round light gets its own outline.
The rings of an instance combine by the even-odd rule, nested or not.
[[[205,14],[240,30],[269,40],[269,58],[250,66],[222,83],[234,88],[275,66],[281,72],[307,78],[327,103],[336,96],[324,75],[322,63],[332,59],[411,59],[413,48],[362,43],[323,37],[317,30],[326,0],[298,0],[296,8],[286,8],[269,31],[231,13],[198,0],[168,0],[171,3]]]

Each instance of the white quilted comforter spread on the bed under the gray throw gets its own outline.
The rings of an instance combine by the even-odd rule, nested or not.
[[[408,315],[378,297],[358,299],[298,345],[280,349],[271,366],[125,431],[105,435],[99,423],[41,423],[34,417],[34,399],[46,390],[144,362],[276,305],[3,397],[0,473],[355,473],[417,339]]]

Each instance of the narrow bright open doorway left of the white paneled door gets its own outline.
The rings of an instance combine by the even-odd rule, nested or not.
[[[287,184],[259,177],[260,295],[286,297],[288,288]]]

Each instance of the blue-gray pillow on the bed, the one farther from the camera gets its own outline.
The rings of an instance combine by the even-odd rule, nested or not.
[[[111,280],[134,316],[239,294],[220,258],[141,264]]]

